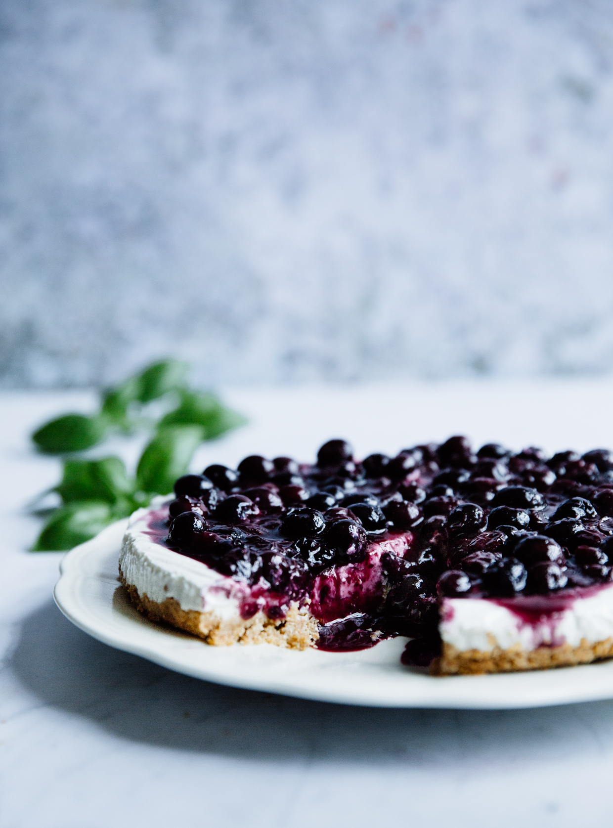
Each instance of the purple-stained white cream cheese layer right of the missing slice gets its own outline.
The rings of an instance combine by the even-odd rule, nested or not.
[[[613,637],[613,585],[595,595],[577,598],[568,609],[543,614],[533,623],[494,601],[471,598],[444,599],[439,625],[442,640],[460,652],[507,649],[520,644],[524,650],[558,646],[578,647]]]

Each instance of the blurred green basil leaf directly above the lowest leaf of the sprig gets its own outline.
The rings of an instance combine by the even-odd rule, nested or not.
[[[104,457],[102,460],[66,460],[64,475],[56,486],[64,503],[80,500],[102,500],[116,503],[133,492],[123,460]]]

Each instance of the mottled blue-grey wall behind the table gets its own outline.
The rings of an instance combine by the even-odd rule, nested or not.
[[[4,0],[0,383],[594,373],[609,0]]]

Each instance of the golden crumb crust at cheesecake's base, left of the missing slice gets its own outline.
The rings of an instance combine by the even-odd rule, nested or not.
[[[250,619],[225,620],[215,613],[181,609],[181,604],[174,598],[164,599],[159,604],[147,595],[138,595],[137,588],[126,582],[121,568],[119,576],[139,613],[151,621],[185,630],[215,647],[268,643],[291,650],[306,650],[319,638],[316,619],[296,603],[290,605],[282,619],[269,619],[263,612],[258,612]]]

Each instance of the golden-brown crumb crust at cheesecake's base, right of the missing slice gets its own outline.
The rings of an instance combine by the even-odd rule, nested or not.
[[[552,667],[571,667],[588,664],[613,656],[613,638],[588,643],[585,638],[578,647],[562,644],[560,647],[537,647],[524,650],[520,644],[508,649],[457,650],[452,644],[442,644],[442,654],[430,665],[432,676],[471,676],[496,672],[548,670]]]

